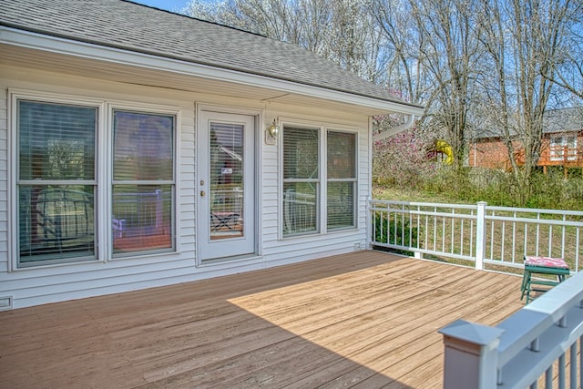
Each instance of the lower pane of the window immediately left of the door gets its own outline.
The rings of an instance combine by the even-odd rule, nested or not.
[[[114,185],[114,253],[173,248],[172,187]]]

